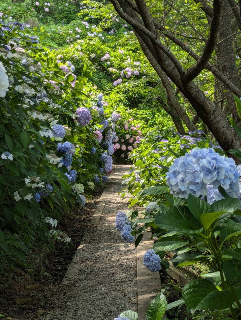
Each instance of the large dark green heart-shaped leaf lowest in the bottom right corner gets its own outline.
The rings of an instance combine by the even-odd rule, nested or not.
[[[185,284],[182,297],[192,313],[203,309],[224,310],[233,303],[229,291],[219,291],[211,281],[205,279],[195,279]]]

